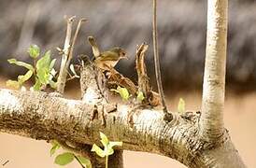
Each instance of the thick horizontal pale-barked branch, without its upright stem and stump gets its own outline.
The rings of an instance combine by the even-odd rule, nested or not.
[[[99,119],[91,119],[95,106],[105,109],[98,110],[106,117],[105,126]],[[189,167],[210,167],[217,163],[217,167],[244,167],[227,133],[223,141],[216,144],[198,138],[195,114],[192,118],[173,114],[174,119],[166,123],[163,111],[140,109],[131,128],[127,118],[133,106],[117,105],[117,109],[110,106],[87,105],[44,92],[0,90],[0,131],[91,145],[100,144],[101,131],[110,140],[122,141],[121,149],[158,153]]]

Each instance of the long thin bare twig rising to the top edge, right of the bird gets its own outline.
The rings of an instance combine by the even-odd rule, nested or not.
[[[157,8],[157,0],[153,0],[153,48],[154,48],[154,63],[155,63],[155,74],[156,74],[156,81],[158,91],[161,97],[161,103],[164,106],[164,114],[165,117],[170,116],[168,113],[167,106],[164,100],[164,90],[163,84],[161,79],[161,70],[160,70],[160,61],[159,61],[159,53],[158,53],[158,41],[157,41],[157,21],[156,21],[156,8]],[[166,118],[165,118],[166,119]]]

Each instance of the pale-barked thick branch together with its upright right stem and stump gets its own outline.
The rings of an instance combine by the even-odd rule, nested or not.
[[[121,141],[110,167],[122,167],[122,150],[164,155],[192,168],[246,167],[223,127],[227,0],[208,1],[206,69],[200,112],[172,113],[144,105],[113,104],[107,100],[105,77],[92,64],[82,67],[82,100],[68,100],[40,91],[0,89],[0,132],[38,140],[57,140],[88,152],[100,144],[99,132]],[[62,71],[63,72],[63,71]],[[59,83],[60,84],[60,83]],[[64,91],[64,85],[61,85]],[[59,88],[61,88],[59,87]],[[133,112],[133,124],[129,122]],[[73,147],[73,146],[72,146]],[[104,167],[101,159],[92,159]]]

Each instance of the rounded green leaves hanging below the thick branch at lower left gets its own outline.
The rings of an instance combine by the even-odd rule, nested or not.
[[[61,145],[55,140],[53,140],[51,142],[51,145],[52,145],[52,147],[50,148],[50,156],[52,156],[58,149],[61,148]],[[88,160],[82,156],[79,156],[73,152],[64,152],[64,153],[57,155],[55,157],[54,163],[64,166],[64,165],[74,161],[74,159],[76,159],[83,166],[86,166],[87,168],[92,168],[92,164],[91,164],[90,160]]]

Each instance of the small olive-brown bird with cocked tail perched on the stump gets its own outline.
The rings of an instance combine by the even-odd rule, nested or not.
[[[109,70],[109,68],[115,67],[115,65],[119,63],[121,59],[128,59],[126,56],[126,52],[120,47],[115,47],[100,52],[100,49],[98,48],[96,41],[92,36],[88,37],[88,41],[92,46],[92,53],[94,56],[94,58],[92,59],[93,63],[95,63],[97,67],[104,71]]]

